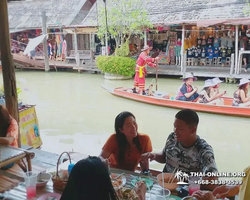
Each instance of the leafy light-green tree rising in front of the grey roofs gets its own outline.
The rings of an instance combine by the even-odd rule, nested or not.
[[[143,3],[142,0],[106,1],[108,25],[106,26],[105,4],[103,0],[97,0],[98,37],[102,39],[108,29],[111,37],[115,39],[118,49],[123,48],[122,44],[128,42],[132,34],[144,36],[143,30],[152,28],[153,24],[148,19]],[[122,50],[121,54],[123,53]],[[120,52],[118,55],[120,55]]]

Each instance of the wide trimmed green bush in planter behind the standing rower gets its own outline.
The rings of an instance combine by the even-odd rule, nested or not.
[[[136,60],[120,56],[98,56],[97,68],[102,72],[133,76],[135,73]]]

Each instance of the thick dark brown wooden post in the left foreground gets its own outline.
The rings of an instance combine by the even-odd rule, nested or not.
[[[19,122],[19,111],[16,90],[16,76],[10,47],[7,0],[0,1],[0,51],[2,57],[2,72],[6,107],[10,115]],[[18,131],[18,146],[21,147],[20,129]]]

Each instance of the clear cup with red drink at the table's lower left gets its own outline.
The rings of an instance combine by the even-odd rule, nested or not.
[[[24,175],[27,199],[31,199],[36,196],[36,183],[37,173],[32,171],[26,172]]]

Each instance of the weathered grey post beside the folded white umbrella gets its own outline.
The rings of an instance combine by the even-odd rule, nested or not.
[[[47,35],[47,16],[45,11],[42,11],[42,32]],[[49,71],[49,57],[48,57],[48,44],[47,44],[47,36],[43,41],[43,52],[44,52],[44,65],[45,71]]]

